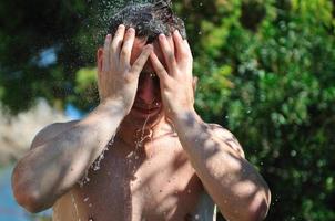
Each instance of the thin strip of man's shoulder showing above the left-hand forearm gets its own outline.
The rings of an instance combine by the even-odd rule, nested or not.
[[[54,138],[59,134],[68,130],[73,125],[75,125],[79,120],[70,120],[70,122],[63,122],[63,123],[53,123],[44,128],[42,128],[33,138],[31,143],[31,149],[42,145],[43,143]]]

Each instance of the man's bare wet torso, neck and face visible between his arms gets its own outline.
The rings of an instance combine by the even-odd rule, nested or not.
[[[153,44],[163,61],[158,42]],[[144,45],[145,39],[135,39],[131,63]],[[148,61],[140,74],[134,105],[105,152],[101,169],[91,169],[89,182],[83,187],[77,185],[58,200],[53,207],[55,220],[195,219],[204,190],[176,133],[165,119],[159,77],[152,73]]]

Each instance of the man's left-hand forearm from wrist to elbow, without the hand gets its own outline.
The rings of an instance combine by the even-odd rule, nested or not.
[[[51,207],[103,151],[123,117],[116,102],[100,104],[67,131],[30,150],[13,171],[19,203],[35,212]]]

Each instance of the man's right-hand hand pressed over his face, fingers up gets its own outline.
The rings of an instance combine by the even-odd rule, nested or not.
[[[182,39],[179,31],[168,38],[161,34],[159,41],[168,70],[153,52],[150,59],[160,77],[165,113],[173,119],[177,114],[194,110],[193,57],[187,41]]]

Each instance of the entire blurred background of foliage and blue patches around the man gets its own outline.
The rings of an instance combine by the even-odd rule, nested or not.
[[[108,18],[133,2],[0,1],[0,221],[50,220],[17,206],[11,170],[43,126],[97,106],[95,50]],[[267,181],[266,220],[335,220],[335,1],[173,6],[200,78],[196,109],[236,135]]]

